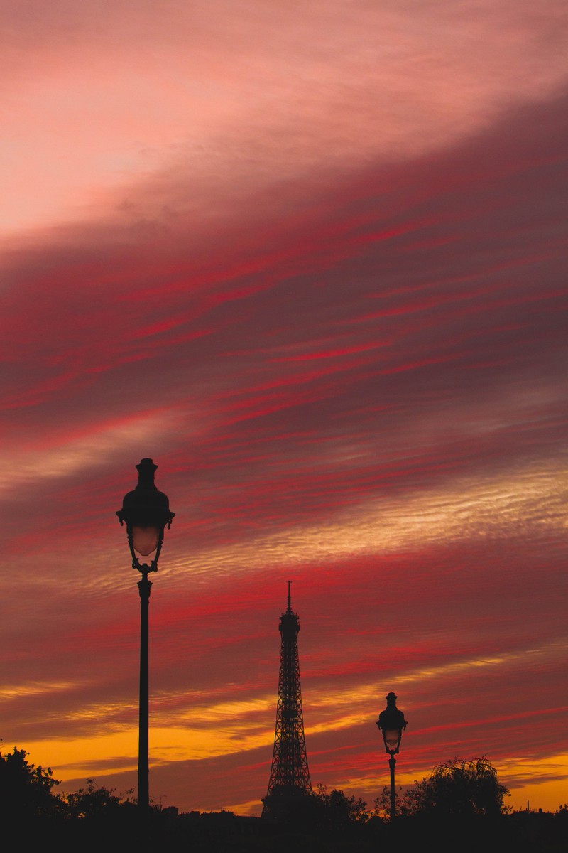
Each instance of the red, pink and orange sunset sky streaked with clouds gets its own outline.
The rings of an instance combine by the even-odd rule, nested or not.
[[[292,581],[313,786],[568,801],[565,0],[0,0],[2,750],[260,814]]]

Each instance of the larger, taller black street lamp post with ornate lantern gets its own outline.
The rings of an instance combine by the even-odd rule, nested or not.
[[[123,498],[123,508],[117,512],[120,524],[126,525],[132,567],[141,572],[140,591],[140,702],[138,727],[138,808],[146,814],[150,806],[148,788],[148,603],[152,583],[150,572],[158,572],[158,558],[164,542],[164,529],[171,525],[175,513],[169,510],[169,500],[154,484],[158,466],[152,459],[142,459],[136,466],[138,485]],[[141,563],[139,557],[150,557]]]

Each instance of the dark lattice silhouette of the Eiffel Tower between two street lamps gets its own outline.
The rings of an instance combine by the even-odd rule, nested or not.
[[[299,795],[311,794],[312,783],[307,768],[304,719],[301,709],[300,660],[298,632],[300,620],[292,611],[290,581],[288,607],[280,617],[281,635],[278,700],[276,704],[276,733],[274,734],[273,763],[270,770],[267,796],[263,798],[263,814],[290,806]]]

